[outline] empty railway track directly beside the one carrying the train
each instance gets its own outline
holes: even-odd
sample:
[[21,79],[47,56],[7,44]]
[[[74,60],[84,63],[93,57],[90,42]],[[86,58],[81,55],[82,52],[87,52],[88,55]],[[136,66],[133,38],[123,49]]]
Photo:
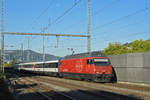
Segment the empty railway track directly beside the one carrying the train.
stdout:
[[[134,97],[134,96],[128,96],[128,95],[121,95],[121,94],[117,94],[117,93],[112,93],[112,92],[108,92],[108,91],[100,91],[99,89],[95,89],[92,87],[87,87],[87,86],[83,86],[83,85],[78,85],[78,84],[72,84],[72,83],[66,83],[66,82],[60,82],[57,80],[46,80],[46,79],[42,79],[42,78],[37,78],[34,80],[40,80],[40,83],[42,84],[55,84],[57,86],[62,86],[65,88],[70,88],[71,90],[77,90],[78,92],[86,94],[86,95],[90,95],[91,97],[95,98],[95,100],[97,99],[102,99],[102,100],[142,100],[140,98]],[[48,85],[48,84],[47,84]],[[90,97],[89,97],[90,98]]]

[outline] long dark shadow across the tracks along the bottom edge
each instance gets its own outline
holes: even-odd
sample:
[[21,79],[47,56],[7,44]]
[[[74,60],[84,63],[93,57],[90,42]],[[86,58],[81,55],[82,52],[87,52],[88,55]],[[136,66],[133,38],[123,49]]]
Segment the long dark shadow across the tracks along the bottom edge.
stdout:
[[141,98],[134,97],[131,95],[125,96],[116,93],[97,91],[97,90],[93,90],[93,91],[74,90],[74,91],[67,91],[67,92],[47,91],[47,92],[40,92],[40,93],[33,92],[33,91],[28,91],[28,92],[20,91],[20,89],[25,89],[25,88],[27,87],[21,85],[16,87],[16,94],[15,94],[16,100],[47,100],[46,98],[41,96],[41,94],[50,95],[49,97],[52,100],[70,100],[60,94],[69,95],[72,98],[75,98],[76,100],[143,100]]

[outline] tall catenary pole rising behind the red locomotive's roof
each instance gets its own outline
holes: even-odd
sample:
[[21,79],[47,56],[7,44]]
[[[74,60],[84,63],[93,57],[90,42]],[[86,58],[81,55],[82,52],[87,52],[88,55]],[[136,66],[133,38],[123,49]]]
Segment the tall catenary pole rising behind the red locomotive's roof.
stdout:
[[91,52],[91,33],[90,33],[90,0],[88,0],[88,52]]

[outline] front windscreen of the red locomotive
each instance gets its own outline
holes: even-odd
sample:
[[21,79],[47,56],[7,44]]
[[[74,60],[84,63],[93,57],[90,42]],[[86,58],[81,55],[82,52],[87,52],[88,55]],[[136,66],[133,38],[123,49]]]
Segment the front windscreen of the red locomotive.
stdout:
[[109,59],[94,59],[95,66],[108,66],[110,65]]

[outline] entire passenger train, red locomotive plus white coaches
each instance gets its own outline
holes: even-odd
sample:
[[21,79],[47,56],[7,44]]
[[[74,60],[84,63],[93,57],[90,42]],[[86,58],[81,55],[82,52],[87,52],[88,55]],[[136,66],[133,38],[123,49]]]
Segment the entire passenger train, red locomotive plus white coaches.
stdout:
[[14,68],[19,71],[96,82],[111,82],[114,79],[110,59],[100,52],[74,54],[46,62],[20,63]]

